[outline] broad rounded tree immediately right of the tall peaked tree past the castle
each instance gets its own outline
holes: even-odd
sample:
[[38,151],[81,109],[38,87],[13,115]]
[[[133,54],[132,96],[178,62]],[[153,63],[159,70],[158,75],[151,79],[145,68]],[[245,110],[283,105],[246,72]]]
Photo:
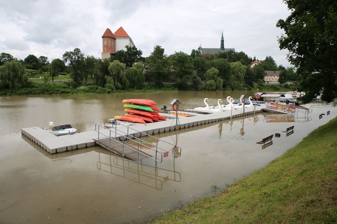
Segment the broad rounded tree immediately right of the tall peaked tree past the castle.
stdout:
[[192,57],[184,52],[176,52],[170,56],[171,69],[178,90],[188,89],[193,73]]

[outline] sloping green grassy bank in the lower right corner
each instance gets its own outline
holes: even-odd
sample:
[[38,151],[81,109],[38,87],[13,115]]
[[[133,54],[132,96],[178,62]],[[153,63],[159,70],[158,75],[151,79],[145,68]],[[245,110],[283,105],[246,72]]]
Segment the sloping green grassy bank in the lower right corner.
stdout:
[[336,223],[337,118],[215,197],[153,223]]

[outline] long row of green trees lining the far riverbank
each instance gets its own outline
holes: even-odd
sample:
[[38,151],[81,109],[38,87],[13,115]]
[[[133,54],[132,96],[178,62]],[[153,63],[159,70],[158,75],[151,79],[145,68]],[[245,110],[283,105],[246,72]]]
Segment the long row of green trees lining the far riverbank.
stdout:
[[[178,90],[243,90],[253,87],[253,83],[264,83],[265,70],[280,70],[280,83],[296,81],[292,67],[277,66],[271,56],[260,60],[250,68],[256,58],[248,57],[244,52],[223,52],[202,57],[198,50],[188,55],[176,52],[167,56],[161,46],[155,46],[149,57],[142,57],[142,51],[126,46],[126,50],[117,51],[110,60],[101,60],[85,55],[80,49],[67,51],[63,58],[54,59],[29,55],[18,60],[8,53],[0,55],[0,82],[3,88],[17,90],[28,83],[32,73],[42,74],[46,81],[55,76],[70,74],[72,87],[79,87],[88,77],[94,78],[94,84],[114,90],[142,89],[144,82],[153,83],[156,88],[163,82],[172,82]],[[26,69],[32,71],[26,72]]]

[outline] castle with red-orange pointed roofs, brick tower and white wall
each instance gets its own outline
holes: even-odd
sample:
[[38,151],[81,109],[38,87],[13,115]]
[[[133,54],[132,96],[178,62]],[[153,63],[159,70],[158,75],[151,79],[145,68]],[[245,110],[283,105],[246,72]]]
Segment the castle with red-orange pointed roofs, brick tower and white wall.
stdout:
[[131,37],[125,32],[123,27],[120,27],[115,33],[112,33],[109,28],[102,36],[102,60],[110,58],[116,51],[126,50],[125,46],[135,47]]

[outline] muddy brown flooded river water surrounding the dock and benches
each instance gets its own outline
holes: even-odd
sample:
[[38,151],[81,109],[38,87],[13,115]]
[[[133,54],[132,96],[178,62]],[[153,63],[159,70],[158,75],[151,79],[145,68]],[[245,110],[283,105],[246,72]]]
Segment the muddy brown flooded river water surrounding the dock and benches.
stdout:
[[[49,122],[93,131],[95,124],[124,115],[127,98],[152,99],[159,108],[177,98],[184,109],[203,106],[204,97],[215,105],[218,98],[241,94],[254,92],[0,97],[0,223],[140,223],[214,195],[337,116],[335,105],[316,103],[305,105],[312,113],[299,111],[290,119],[262,113],[162,133],[156,137],[177,143],[182,154],[157,164],[149,159],[135,163],[99,146],[49,155],[21,135],[22,128],[48,127]],[[282,133],[293,125],[293,134]],[[262,149],[256,144],[275,133],[281,137],[274,137],[273,145]]]

